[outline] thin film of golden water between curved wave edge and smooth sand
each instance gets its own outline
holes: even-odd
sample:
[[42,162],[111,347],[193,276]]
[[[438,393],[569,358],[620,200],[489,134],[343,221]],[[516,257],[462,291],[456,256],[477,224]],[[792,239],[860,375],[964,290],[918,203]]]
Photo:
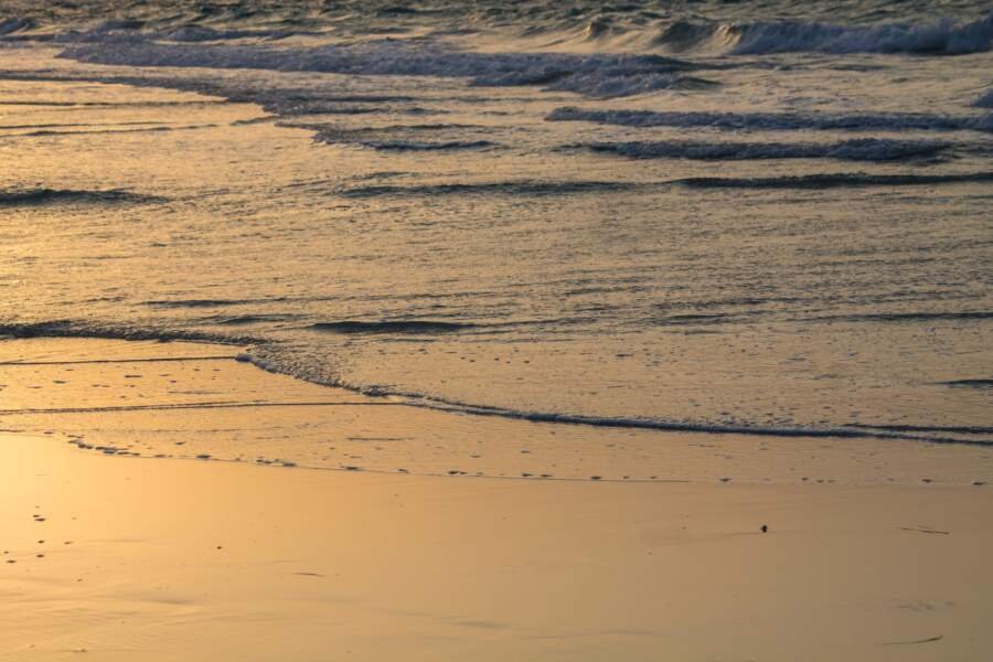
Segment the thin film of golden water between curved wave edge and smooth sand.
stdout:
[[619,482],[993,482],[993,449],[596,427],[409,405],[273,373],[238,345],[0,341],[0,427],[106,455],[349,471]]

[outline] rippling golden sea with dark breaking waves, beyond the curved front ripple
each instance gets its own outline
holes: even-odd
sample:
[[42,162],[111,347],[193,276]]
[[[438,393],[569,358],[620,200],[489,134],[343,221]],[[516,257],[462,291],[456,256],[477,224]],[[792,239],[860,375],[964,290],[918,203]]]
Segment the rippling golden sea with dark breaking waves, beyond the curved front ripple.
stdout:
[[964,1],[8,0],[0,333],[993,444],[991,46]]

